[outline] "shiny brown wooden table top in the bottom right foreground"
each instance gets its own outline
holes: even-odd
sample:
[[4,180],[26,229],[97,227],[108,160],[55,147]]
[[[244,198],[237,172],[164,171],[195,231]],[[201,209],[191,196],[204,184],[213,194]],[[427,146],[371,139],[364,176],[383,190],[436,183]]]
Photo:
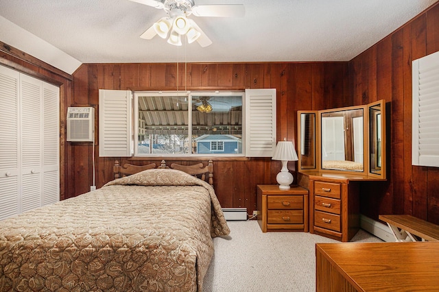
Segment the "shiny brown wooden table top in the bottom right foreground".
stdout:
[[358,291],[439,291],[439,243],[318,243]]

